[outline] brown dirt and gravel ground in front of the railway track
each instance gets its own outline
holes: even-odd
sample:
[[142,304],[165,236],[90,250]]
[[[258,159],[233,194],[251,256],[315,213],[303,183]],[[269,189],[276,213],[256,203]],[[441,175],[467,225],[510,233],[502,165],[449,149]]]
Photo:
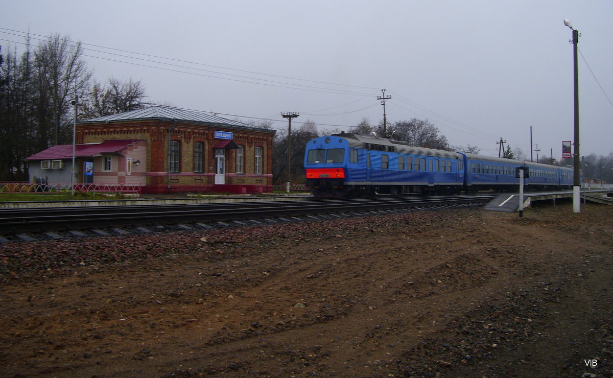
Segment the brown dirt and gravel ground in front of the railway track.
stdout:
[[612,220],[469,208],[0,246],[0,376],[611,377]]

